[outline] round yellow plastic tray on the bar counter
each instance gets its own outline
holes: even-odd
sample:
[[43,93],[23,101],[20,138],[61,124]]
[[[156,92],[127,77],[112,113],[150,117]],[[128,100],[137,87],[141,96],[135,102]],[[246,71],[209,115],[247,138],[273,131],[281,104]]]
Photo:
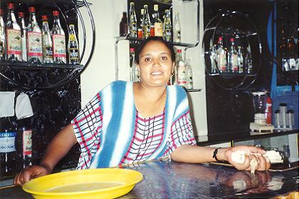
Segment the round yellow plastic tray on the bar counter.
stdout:
[[33,198],[117,198],[143,178],[125,168],[96,168],[53,173],[23,184]]

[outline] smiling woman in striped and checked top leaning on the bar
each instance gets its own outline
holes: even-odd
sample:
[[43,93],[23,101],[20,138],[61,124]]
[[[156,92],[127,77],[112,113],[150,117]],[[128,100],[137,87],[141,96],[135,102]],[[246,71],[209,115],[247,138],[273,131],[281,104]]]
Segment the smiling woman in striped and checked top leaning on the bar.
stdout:
[[[229,161],[239,170],[268,170],[265,151],[253,146],[226,149],[196,146],[187,94],[177,85],[167,86],[174,71],[174,50],[160,37],[150,37],[136,54],[140,82],[116,81],[101,90],[49,144],[38,166],[21,171],[14,184],[53,171],[56,163],[77,142],[78,169],[119,166],[170,156],[174,161],[204,163]],[[231,160],[234,151],[247,151],[244,163]],[[258,154],[258,155],[251,155]]]

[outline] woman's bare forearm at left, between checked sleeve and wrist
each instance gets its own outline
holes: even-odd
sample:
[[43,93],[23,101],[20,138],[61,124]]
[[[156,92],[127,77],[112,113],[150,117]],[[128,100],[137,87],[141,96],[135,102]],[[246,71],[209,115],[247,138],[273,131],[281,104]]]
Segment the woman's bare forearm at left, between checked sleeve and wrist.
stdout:
[[46,154],[43,156],[40,165],[47,168],[48,171],[53,171],[58,161],[68,154],[68,151],[76,144],[77,139],[75,138],[73,126],[69,124],[53,138]]

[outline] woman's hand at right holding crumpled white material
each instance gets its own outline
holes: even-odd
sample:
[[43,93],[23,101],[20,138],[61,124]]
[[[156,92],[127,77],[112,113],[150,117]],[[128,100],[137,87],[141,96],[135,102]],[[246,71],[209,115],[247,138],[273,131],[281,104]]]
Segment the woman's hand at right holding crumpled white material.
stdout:
[[[236,163],[231,159],[231,154],[235,151],[246,151],[245,155],[245,161],[243,163]],[[234,146],[227,151],[225,151],[225,157],[226,160],[229,161],[234,167],[236,167],[238,170],[251,170],[251,160],[256,159],[257,166],[254,168],[256,171],[265,171],[268,170],[271,166],[271,163],[268,158],[264,157],[263,154],[265,154],[266,151],[264,151],[261,148],[258,148],[256,146]]]

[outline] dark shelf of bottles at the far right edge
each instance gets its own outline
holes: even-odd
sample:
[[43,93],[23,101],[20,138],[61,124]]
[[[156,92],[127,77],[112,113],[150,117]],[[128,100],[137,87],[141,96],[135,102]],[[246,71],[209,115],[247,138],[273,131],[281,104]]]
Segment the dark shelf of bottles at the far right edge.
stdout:
[[277,84],[299,85],[298,1],[278,1],[277,8]]

